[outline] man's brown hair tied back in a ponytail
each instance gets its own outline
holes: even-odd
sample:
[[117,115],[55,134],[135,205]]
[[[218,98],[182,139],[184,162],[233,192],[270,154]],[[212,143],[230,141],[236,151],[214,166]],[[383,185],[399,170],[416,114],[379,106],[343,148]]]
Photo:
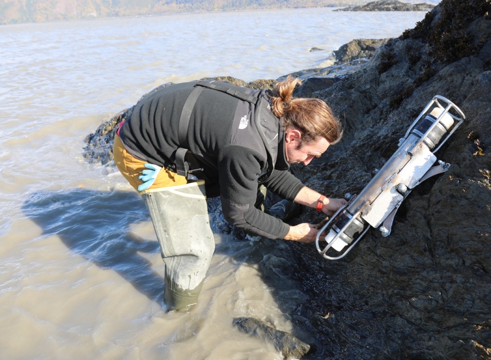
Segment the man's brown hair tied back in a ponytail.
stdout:
[[328,105],[320,99],[293,98],[295,87],[301,83],[298,78],[288,75],[276,84],[270,95],[273,114],[283,117],[286,130],[300,130],[305,143],[321,137],[330,144],[337,143],[343,136],[343,129]]

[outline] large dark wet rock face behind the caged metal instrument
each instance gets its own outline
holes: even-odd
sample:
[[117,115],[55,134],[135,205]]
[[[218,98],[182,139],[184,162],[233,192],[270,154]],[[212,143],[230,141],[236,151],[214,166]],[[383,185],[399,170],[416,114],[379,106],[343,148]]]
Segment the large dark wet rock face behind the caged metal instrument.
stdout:
[[[345,125],[343,140],[321,159],[293,166],[329,197],[360,193],[434,95],[466,116],[436,153],[449,171],[412,191],[389,237],[372,228],[339,261],[295,242],[277,243],[261,260],[296,333],[317,347],[305,359],[491,358],[490,13],[489,0],[443,0],[370,59],[293,74],[304,80],[298,96],[325,100]],[[305,86],[322,76],[336,80]],[[94,159],[130,111],[87,137],[98,139],[87,144]],[[244,236],[219,216],[219,201],[209,207],[221,231]],[[291,223],[321,219],[303,208]],[[282,288],[282,277],[297,286]]]

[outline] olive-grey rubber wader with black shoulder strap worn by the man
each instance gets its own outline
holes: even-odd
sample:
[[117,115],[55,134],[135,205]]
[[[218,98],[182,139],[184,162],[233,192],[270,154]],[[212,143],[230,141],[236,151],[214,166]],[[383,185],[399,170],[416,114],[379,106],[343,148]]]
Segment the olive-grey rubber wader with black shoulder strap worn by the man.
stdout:
[[[175,154],[175,170],[178,175],[185,177],[196,172],[199,176],[199,172],[203,171],[202,168],[190,170],[190,166],[197,162],[188,150],[187,130],[194,104],[205,87],[254,104],[257,102],[257,97],[210,82],[196,84],[184,103],[179,119],[181,147]],[[165,263],[165,306],[167,310],[190,309],[197,303],[215,250],[206,204],[205,181],[149,188],[140,195],[150,213]]]

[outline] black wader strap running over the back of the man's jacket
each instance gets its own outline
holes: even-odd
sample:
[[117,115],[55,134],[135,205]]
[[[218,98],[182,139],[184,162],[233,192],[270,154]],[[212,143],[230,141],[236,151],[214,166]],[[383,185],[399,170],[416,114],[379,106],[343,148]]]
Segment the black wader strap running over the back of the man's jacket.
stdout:
[[235,91],[232,90],[231,88],[227,88],[224,86],[215,85],[214,83],[211,82],[200,81],[196,83],[193,91],[191,91],[188,98],[184,102],[183,110],[181,112],[181,117],[179,118],[178,137],[179,137],[180,147],[175,152],[175,168],[176,168],[176,173],[178,175],[187,177],[188,173],[191,173],[193,171],[203,170],[203,169],[189,170],[189,163],[186,161],[186,156],[188,158],[192,158],[193,156],[192,153],[187,149],[189,147],[189,143],[188,143],[189,120],[191,119],[191,114],[194,109],[194,104],[196,103],[196,100],[198,99],[199,95],[205,88],[221,91],[253,104],[256,104],[258,99],[255,96],[241,93],[240,91]]

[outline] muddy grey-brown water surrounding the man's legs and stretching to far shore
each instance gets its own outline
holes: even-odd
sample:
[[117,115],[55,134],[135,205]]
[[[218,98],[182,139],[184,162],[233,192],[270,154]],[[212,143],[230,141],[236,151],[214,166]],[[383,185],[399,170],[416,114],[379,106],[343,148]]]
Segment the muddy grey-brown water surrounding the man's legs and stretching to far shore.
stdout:
[[0,27],[0,358],[280,359],[232,326],[239,316],[308,340],[285,313],[305,300],[285,276],[287,247],[219,228],[197,308],[164,312],[143,202],[111,167],[85,162],[83,139],[161,83],[277,78],[423,15],[294,9]]

